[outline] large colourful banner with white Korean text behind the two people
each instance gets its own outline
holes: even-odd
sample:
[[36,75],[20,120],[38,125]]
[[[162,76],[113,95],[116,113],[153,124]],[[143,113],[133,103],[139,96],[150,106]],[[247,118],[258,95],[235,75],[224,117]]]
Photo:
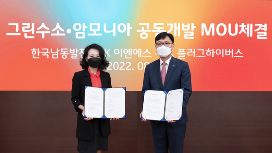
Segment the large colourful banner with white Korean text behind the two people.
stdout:
[[0,90],[71,90],[84,48],[101,45],[113,87],[139,91],[174,35],[194,91],[272,91],[271,0],[1,0]]

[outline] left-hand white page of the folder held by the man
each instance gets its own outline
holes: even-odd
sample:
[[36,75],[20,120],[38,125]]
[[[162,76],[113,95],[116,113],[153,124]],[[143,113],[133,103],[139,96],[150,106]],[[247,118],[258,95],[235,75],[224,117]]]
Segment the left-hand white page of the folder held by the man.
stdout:
[[151,120],[163,119],[165,96],[164,91],[147,90],[144,94],[142,117]]

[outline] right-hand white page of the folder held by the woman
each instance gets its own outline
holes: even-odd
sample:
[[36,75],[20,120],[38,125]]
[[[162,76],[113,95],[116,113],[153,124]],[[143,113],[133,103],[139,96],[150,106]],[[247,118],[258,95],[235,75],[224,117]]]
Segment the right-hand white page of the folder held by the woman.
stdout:
[[126,114],[126,90],[119,88],[105,89],[106,118],[123,118]]

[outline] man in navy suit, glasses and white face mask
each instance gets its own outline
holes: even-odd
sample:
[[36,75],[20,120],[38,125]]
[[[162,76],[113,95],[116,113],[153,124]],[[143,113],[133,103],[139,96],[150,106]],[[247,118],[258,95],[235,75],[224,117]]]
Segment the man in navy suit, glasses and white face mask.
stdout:
[[160,58],[147,65],[144,73],[142,100],[145,90],[169,91],[184,88],[182,120],[150,121],[155,153],[168,153],[168,150],[170,153],[183,153],[188,122],[186,105],[192,94],[191,73],[187,62],[171,56],[174,46],[172,34],[158,34],[155,37],[155,48]]

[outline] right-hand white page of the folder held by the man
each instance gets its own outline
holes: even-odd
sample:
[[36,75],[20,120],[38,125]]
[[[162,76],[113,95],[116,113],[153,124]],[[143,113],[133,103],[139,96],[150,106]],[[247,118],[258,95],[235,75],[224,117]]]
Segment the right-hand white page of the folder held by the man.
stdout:
[[165,119],[179,120],[182,115],[183,90],[171,90],[167,93]]

